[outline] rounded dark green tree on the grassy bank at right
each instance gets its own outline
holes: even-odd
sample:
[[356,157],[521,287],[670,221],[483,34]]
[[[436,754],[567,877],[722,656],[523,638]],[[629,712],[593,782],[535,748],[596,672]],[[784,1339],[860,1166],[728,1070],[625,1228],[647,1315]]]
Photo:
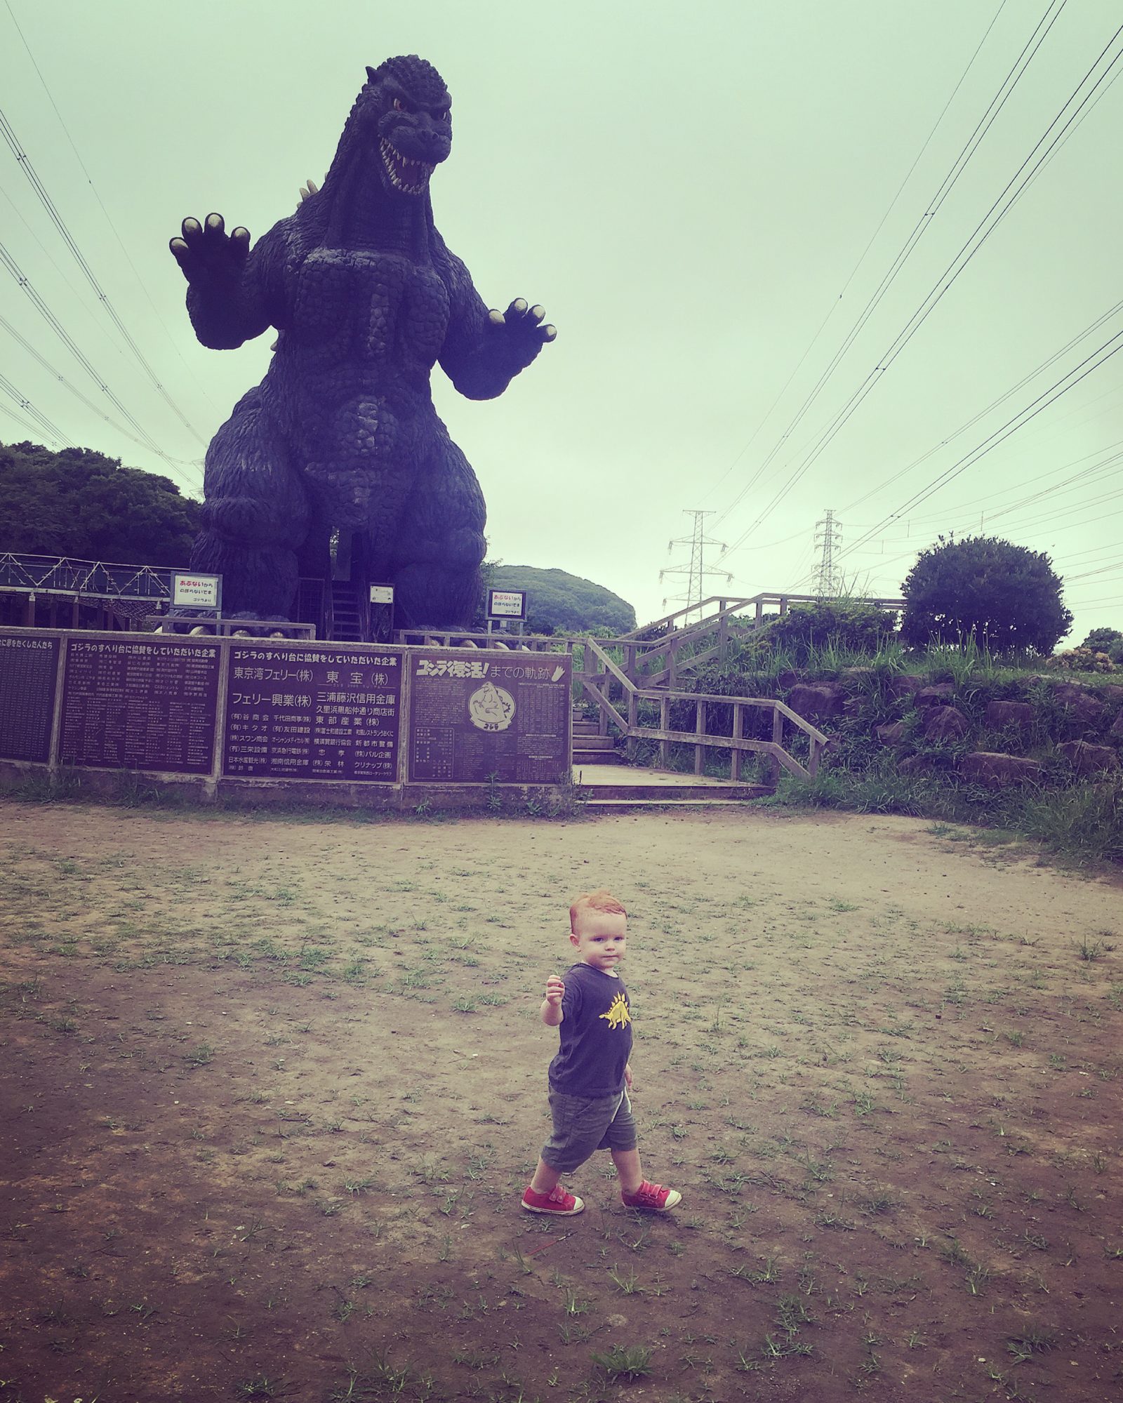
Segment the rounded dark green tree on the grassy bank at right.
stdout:
[[1049,556],[994,536],[941,536],[901,591],[901,638],[912,647],[974,638],[992,652],[1049,654],[1072,624]]

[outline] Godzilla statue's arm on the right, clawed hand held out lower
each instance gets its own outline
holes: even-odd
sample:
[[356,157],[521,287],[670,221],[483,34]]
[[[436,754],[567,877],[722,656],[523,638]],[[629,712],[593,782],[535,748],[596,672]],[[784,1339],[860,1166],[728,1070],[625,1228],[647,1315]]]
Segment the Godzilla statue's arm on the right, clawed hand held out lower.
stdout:
[[489,311],[467,268],[435,230],[434,262],[449,295],[441,369],[469,400],[493,400],[557,333],[542,325],[542,307],[528,307],[521,297],[505,313]]

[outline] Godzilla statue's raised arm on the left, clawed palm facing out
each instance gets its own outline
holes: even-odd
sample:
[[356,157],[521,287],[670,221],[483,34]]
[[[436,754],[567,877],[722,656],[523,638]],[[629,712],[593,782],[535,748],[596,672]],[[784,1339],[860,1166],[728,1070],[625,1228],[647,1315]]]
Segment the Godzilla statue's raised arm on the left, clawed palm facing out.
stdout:
[[270,325],[282,325],[284,224],[274,224],[250,248],[248,230],[227,236],[222,215],[208,215],[202,224],[184,220],[182,237],[170,247],[188,282],[191,325],[205,347],[230,351]]

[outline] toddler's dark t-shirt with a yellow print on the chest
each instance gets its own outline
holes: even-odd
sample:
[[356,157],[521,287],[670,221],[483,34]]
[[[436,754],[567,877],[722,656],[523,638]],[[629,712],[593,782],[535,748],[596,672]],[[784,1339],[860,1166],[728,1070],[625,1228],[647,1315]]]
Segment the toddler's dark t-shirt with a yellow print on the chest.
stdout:
[[632,1054],[632,1006],[619,975],[571,965],[563,975],[562,1047],[550,1062],[550,1087],[566,1096],[615,1096]]

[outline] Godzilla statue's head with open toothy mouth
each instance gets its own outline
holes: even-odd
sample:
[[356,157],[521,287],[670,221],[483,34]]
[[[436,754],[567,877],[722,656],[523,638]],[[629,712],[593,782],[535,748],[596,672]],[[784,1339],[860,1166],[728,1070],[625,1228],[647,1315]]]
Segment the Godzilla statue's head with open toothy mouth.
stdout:
[[424,195],[452,149],[452,98],[437,69],[416,53],[368,67],[355,108],[378,143],[386,188]]

